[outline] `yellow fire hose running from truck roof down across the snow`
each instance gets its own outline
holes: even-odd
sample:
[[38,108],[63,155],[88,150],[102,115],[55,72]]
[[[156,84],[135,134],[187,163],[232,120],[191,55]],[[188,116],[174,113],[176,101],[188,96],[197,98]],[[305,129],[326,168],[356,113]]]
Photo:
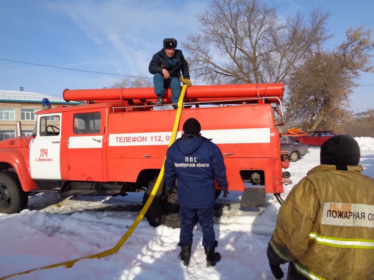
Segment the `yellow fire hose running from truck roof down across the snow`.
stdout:
[[[183,88],[182,88],[182,91],[181,91],[181,96],[179,97],[179,100],[178,100],[178,110],[177,110],[177,115],[175,116],[173,132],[171,134],[170,141],[169,141],[169,146],[168,147],[170,147],[171,144],[174,143],[175,138],[177,136],[178,125],[179,125],[179,121],[180,121],[181,113],[182,113],[183,98],[184,98],[184,94],[186,94],[186,89],[187,89],[187,85],[183,85]],[[140,213],[139,213],[138,217],[136,218],[136,220],[134,221],[134,223],[132,223],[131,227],[128,229],[128,231],[125,233],[125,235],[122,236],[122,238],[119,240],[119,242],[116,244],[116,246],[114,246],[113,248],[111,248],[111,249],[109,249],[107,251],[96,253],[94,255],[85,256],[85,257],[82,257],[82,258],[79,258],[79,259],[73,259],[71,261],[61,262],[59,264],[52,264],[52,265],[48,265],[46,267],[34,268],[34,269],[31,269],[31,270],[23,271],[21,273],[15,273],[15,274],[12,274],[12,275],[8,275],[8,276],[5,276],[3,278],[0,278],[0,280],[7,279],[7,278],[15,276],[15,275],[21,275],[21,274],[25,274],[25,273],[30,273],[31,271],[35,271],[35,270],[52,268],[52,267],[59,267],[61,265],[65,265],[66,267],[72,267],[77,261],[79,261],[81,259],[102,258],[102,257],[109,256],[111,254],[114,254],[114,253],[118,252],[118,250],[122,247],[122,245],[126,242],[126,240],[134,232],[135,228],[138,226],[138,224],[140,223],[141,219],[144,217],[145,213],[147,212],[149,206],[151,205],[151,203],[152,203],[152,201],[154,199],[154,196],[156,195],[156,192],[157,192],[157,190],[158,190],[158,188],[160,186],[160,183],[162,181],[162,178],[163,178],[164,164],[165,164],[165,159],[164,159],[164,162],[162,164],[162,168],[161,168],[159,177],[157,177],[156,184],[154,185],[153,190],[151,192],[151,195],[148,197],[147,202],[145,203],[143,209],[140,211]]]

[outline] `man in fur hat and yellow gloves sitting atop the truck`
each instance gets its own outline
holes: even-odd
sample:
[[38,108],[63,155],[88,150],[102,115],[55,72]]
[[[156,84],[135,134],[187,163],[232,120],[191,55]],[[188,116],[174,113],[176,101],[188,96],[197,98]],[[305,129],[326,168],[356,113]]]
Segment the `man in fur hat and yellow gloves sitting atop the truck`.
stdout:
[[[178,103],[181,95],[181,84],[191,86],[190,74],[188,71],[188,63],[181,50],[176,50],[177,40],[174,38],[166,38],[163,40],[163,49],[154,54],[149,63],[148,70],[153,74],[154,93],[157,95],[156,106],[163,105],[163,97],[165,88],[171,88],[171,100]],[[183,78],[181,77],[181,72]],[[176,109],[177,106],[174,105]]]

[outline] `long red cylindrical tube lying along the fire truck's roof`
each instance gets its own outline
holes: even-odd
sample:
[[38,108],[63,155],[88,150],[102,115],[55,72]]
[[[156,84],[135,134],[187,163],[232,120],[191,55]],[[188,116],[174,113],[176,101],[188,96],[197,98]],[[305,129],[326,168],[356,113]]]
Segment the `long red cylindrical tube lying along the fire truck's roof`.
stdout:
[[[283,96],[283,83],[273,84],[230,84],[193,85],[187,88],[185,99],[250,98]],[[153,87],[143,88],[99,88],[91,90],[64,90],[66,101],[80,100],[130,100],[154,99]],[[165,99],[171,98],[170,89],[165,90]]]

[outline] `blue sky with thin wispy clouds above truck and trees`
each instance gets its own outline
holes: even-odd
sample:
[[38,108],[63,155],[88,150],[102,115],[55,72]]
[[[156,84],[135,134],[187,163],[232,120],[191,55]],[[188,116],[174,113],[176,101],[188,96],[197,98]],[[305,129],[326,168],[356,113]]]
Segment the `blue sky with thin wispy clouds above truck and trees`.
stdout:
[[[305,15],[314,7],[331,10],[328,27],[344,40],[345,31],[366,24],[374,29],[374,1],[270,0],[279,16]],[[195,16],[208,1],[0,0],[0,58],[65,68],[147,77],[148,64],[166,37],[184,40],[197,31]],[[119,76],[49,68],[0,60],[0,89],[62,95],[65,88],[108,87]],[[374,84],[364,74],[361,85]],[[374,108],[374,86],[352,95],[356,112]]]

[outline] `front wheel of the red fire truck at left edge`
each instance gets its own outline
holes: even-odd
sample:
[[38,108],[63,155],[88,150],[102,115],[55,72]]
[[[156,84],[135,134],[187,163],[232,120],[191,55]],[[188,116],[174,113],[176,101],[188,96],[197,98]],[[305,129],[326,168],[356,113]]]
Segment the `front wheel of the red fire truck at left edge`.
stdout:
[[19,213],[27,207],[28,196],[12,171],[0,172],[0,213]]

